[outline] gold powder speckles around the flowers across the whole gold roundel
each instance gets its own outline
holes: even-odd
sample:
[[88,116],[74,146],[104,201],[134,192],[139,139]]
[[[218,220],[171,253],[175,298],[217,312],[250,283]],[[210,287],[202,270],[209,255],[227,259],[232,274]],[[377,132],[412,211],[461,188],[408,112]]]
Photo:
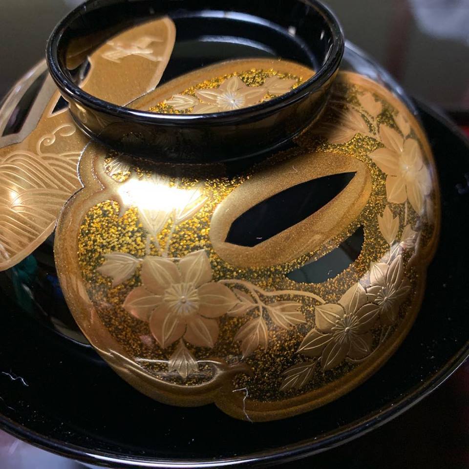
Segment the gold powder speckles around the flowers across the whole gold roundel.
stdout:
[[[246,85],[258,86],[274,74],[274,70],[253,69],[237,75]],[[233,75],[235,74],[224,75],[200,83],[185,90],[184,93],[193,96],[196,89],[217,87]],[[297,84],[301,82],[299,77],[290,75],[285,75],[285,77],[295,78]],[[118,200],[120,199],[117,195],[112,197],[109,196],[109,192],[106,192],[107,200],[102,200],[89,208],[86,206],[87,212],[81,221],[78,233],[80,274],[85,281],[87,294],[99,319],[112,338],[122,346],[127,356],[138,366],[153,377],[167,383],[192,386],[207,384],[213,380],[217,375],[218,367],[224,366],[223,361],[230,364],[243,362],[251,367],[251,373],[236,375],[232,382],[234,389],[246,388],[249,395],[248,401],[261,403],[298,397],[300,394],[318,390],[327,384],[334,383],[348,373],[357,370],[361,364],[360,361],[344,360],[332,370],[323,372],[319,358],[308,358],[298,354],[300,343],[306,334],[315,327],[315,307],[322,301],[337,303],[344,292],[354,283],[362,282],[362,284],[366,284],[366,282],[369,282],[370,264],[385,261],[390,256],[391,248],[380,232],[378,225],[378,216],[384,213],[386,207],[389,208],[392,217],[397,218],[399,223],[396,234],[397,242],[401,239],[406,225],[419,231],[419,247],[425,246],[434,235],[433,220],[430,215],[419,217],[408,202],[394,204],[389,203],[387,200],[386,175],[373,163],[369,155],[376,149],[383,148],[383,144],[378,140],[379,126],[385,125],[397,130],[398,133],[400,132],[395,121],[397,113],[396,109],[378,95],[375,98],[376,102],[381,104],[379,113],[372,115],[365,112],[360,101],[365,91],[359,86],[339,82],[335,96],[340,97],[341,104],[335,103],[335,109],[327,109],[321,122],[339,125],[337,109],[346,108],[348,103],[360,111],[361,118],[365,123],[363,133],[366,133],[366,135],[356,132],[347,141],[333,144],[313,128],[303,132],[296,139],[295,145],[291,149],[285,150],[272,159],[248,168],[233,177],[226,175],[228,170],[225,167],[217,167],[216,171],[212,172],[207,167],[140,164],[135,160],[128,159],[125,155],[112,152],[94,160],[94,164],[104,170],[101,173],[104,173],[108,180],[112,180],[113,187],[119,188],[121,184],[126,184],[129,178],[136,178],[137,182],[146,181],[155,185],[163,184],[169,188],[181,190],[181,193],[193,191],[194,188],[199,191],[198,198],[188,202],[188,208],[178,206],[180,202],[178,200],[179,195],[174,195],[172,198],[168,197],[168,200],[166,200],[168,216],[166,218],[162,217],[164,221],[158,233],[153,235],[149,235],[148,221],[147,224],[142,222],[144,209],[139,209],[137,205],[123,209],[119,205]],[[151,110],[172,112],[164,103]],[[415,132],[410,135],[416,138]],[[362,206],[360,206],[361,210],[358,216],[351,223],[340,225],[340,232],[327,237],[326,241],[321,243],[319,247],[315,249],[305,248],[298,253],[295,251],[295,256],[292,256],[294,258],[287,262],[276,262],[273,257],[274,254],[272,254],[272,265],[266,267],[253,267],[253,263],[248,264],[251,267],[240,267],[235,265],[234,262],[228,262],[226,257],[223,257],[222,251],[216,251],[212,244],[212,242],[215,244],[214,233],[219,228],[213,224],[213,215],[217,210],[226,210],[226,205],[222,205],[220,209],[220,204],[235,189],[238,193],[248,190],[246,189],[249,188],[247,184],[243,186],[246,181],[251,182],[256,180],[256,177],[262,178],[269,171],[273,171],[277,165],[294,161],[295,158],[301,158],[313,152],[326,152],[330,158],[342,158],[344,160],[352,158],[354,163],[357,163],[356,160],[363,163],[364,166],[361,165],[360,167],[363,168],[363,171],[369,173],[371,189],[368,199],[363,202],[363,208],[361,209]],[[156,175],[161,177],[155,177]],[[107,180],[102,182],[104,186],[107,185]],[[118,192],[118,189],[115,190]],[[171,196],[174,194],[173,192],[165,193],[169,193]],[[149,193],[148,197],[151,196]],[[437,196],[437,194],[432,194],[428,197],[429,209],[436,209]],[[181,196],[181,200],[183,199],[184,197]],[[251,199],[254,199],[254,194],[249,200]],[[153,222],[159,216],[162,216],[160,212],[164,205],[160,200],[155,199],[154,206],[149,206],[149,213],[153,210],[150,213],[154,217]],[[183,213],[186,209],[190,211],[191,207],[194,206],[197,206],[197,210],[191,216],[180,223],[176,223],[178,213]],[[428,210],[428,213],[431,210]],[[123,214],[119,216],[121,211]],[[350,265],[337,276],[320,284],[298,283],[287,277],[287,274],[292,270],[301,268],[306,263],[314,262],[337,249],[359,227],[363,227],[364,232],[361,251],[358,253],[356,260],[351,261]],[[249,229],[249,227],[246,229]],[[288,250],[289,244],[284,243],[280,246],[280,249],[283,251]],[[257,306],[249,309],[241,317],[231,317],[224,314],[218,319],[218,340],[213,348],[195,347],[190,343],[186,343],[189,353],[197,360],[199,373],[190,374],[187,379],[183,379],[178,373],[170,372],[168,368],[168,360],[175,353],[178,341],[162,349],[152,337],[149,324],[134,318],[122,306],[129,292],[142,283],[140,264],[132,272],[132,275],[115,286],[112,285],[111,277],[102,275],[97,269],[105,262],[105,255],[114,252],[134,256],[138,262],[147,255],[168,256],[177,264],[182,257],[199,250],[204,250],[210,260],[213,273],[212,280],[214,282],[223,280],[232,289],[237,288],[238,294],[241,291],[246,295],[248,289],[242,284],[237,284],[236,281],[250,282],[250,284],[259,288],[259,291],[267,292],[265,295],[258,293],[259,298],[267,306],[278,301],[300,302],[300,311],[304,322],[296,324],[289,330],[284,330],[273,322],[272,317],[266,310],[261,311]],[[253,259],[253,252],[255,250],[252,250],[251,254],[246,257],[251,256],[251,259]],[[404,252],[405,264],[409,262],[412,254],[412,251]],[[418,297],[417,292],[420,281],[420,271],[418,269],[420,269],[419,266],[412,266],[405,270],[411,293],[402,304],[396,322],[388,329],[384,329],[382,324],[377,323],[371,330],[373,350],[377,350],[378,344],[381,344],[381,342],[395,340],[394,332],[404,323],[406,315],[409,314]],[[232,283],[230,283],[230,280]],[[293,293],[268,294],[274,291]],[[307,296],[299,298],[295,295],[295,292],[310,293],[322,300]],[[268,329],[268,345],[265,349],[262,345],[256,347],[254,353],[243,359],[240,341],[235,340],[236,334],[243,325],[259,317],[263,318]],[[370,358],[370,360],[373,359]],[[295,387],[282,389],[285,370],[299,363],[311,363],[313,367],[311,380],[300,389]]]

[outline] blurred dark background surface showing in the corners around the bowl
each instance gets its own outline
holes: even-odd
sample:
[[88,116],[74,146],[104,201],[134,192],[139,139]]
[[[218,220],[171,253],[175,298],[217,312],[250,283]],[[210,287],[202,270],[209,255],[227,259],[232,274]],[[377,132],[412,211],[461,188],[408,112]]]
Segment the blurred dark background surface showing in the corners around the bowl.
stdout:
[[[52,27],[79,0],[0,0],[0,96],[44,56]],[[406,91],[454,115],[469,111],[469,0],[329,0],[347,39]],[[467,123],[469,124],[469,123]],[[469,468],[469,362],[405,414],[284,469]],[[0,431],[1,469],[81,467]]]

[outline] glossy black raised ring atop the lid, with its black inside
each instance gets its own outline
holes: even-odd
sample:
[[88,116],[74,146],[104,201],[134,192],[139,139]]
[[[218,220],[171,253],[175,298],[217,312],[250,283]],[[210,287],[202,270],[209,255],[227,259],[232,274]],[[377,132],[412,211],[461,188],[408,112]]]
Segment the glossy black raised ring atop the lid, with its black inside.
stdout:
[[[191,116],[119,107],[80,89],[76,82],[93,49],[131,25],[162,15],[171,17],[177,31],[164,80],[213,62],[253,56],[282,57],[317,73],[271,101]],[[89,47],[72,60],[69,51],[84,37]],[[314,122],[343,48],[338,21],[316,0],[91,0],[59,23],[47,45],[47,61],[74,119],[88,135],[158,160],[224,161],[275,149]],[[86,110],[85,119],[77,104]],[[125,138],[130,132],[139,138]]]

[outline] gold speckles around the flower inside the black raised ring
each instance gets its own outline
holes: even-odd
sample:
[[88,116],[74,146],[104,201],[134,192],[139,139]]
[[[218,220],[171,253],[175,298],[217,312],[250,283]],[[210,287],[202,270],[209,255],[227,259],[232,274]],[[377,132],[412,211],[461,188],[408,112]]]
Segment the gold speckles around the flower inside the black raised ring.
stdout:
[[[250,70],[228,73],[226,75],[215,77],[210,80],[205,80],[201,83],[198,83],[197,85],[191,86],[190,88],[184,90],[180,94],[187,94],[190,96],[195,96],[196,90],[218,88],[224,81],[228,80],[231,77],[239,77],[247,86],[262,86],[267,80],[267,78],[270,78],[270,77],[278,77],[281,80],[284,80],[284,79],[296,80],[297,83],[295,83],[292,86],[292,89],[296,88],[303,81],[302,77],[298,77],[290,73],[281,73],[273,68],[266,69],[266,70],[257,70],[256,68],[251,68]],[[272,98],[275,98],[275,95],[267,93],[262,99],[259,100],[259,102],[268,101],[269,99],[272,99]],[[153,112],[159,112],[162,114],[190,114],[192,112],[192,107],[188,109],[184,109],[184,110],[177,110],[177,109],[174,109],[169,104],[162,102],[162,103],[158,103],[156,106],[150,107],[149,110]]]

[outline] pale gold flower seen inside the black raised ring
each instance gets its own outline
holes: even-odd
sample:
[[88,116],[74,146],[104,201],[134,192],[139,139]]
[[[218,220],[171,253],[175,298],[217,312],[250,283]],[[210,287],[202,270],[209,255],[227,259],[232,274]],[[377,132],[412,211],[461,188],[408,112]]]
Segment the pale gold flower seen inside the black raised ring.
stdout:
[[218,88],[199,89],[195,95],[202,103],[193,107],[193,114],[241,109],[257,104],[267,93],[263,86],[248,86],[239,77],[225,80]]

